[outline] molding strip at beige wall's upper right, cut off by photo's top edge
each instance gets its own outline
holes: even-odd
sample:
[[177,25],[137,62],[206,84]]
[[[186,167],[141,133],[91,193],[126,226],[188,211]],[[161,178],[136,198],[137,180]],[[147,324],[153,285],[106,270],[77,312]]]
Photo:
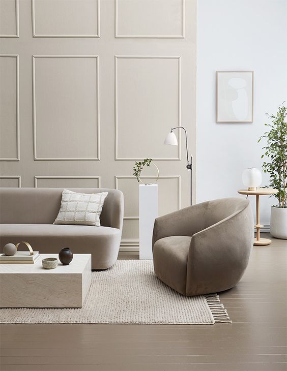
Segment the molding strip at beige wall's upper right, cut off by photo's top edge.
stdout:
[[119,34],[119,1],[114,0],[114,37],[116,39],[184,39],[185,0],[181,0],[181,34],[179,35],[121,35]]

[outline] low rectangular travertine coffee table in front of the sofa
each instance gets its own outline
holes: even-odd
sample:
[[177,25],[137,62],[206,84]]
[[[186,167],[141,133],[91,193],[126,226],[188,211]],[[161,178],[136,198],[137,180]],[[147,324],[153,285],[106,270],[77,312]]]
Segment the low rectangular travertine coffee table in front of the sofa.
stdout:
[[44,269],[41,254],[35,264],[0,264],[0,307],[79,308],[91,284],[91,254],[74,254],[70,265]]

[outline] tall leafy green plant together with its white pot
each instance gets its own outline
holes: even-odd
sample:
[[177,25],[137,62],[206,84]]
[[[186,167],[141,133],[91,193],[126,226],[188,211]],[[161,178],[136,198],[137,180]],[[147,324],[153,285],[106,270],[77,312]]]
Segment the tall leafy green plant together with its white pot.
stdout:
[[278,205],[271,207],[270,233],[273,237],[287,239],[287,107],[278,107],[276,115],[269,115],[269,128],[259,139],[266,138],[265,150],[261,158],[266,157],[262,168],[269,173],[269,187],[278,190],[275,197]]

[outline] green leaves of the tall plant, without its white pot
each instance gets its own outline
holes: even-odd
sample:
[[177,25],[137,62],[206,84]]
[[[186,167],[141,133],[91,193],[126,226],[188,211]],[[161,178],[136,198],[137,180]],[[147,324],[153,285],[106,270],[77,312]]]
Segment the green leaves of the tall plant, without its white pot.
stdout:
[[269,187],[278,190],[275,197],[278,206],[287,208],[287,107],[283,104],[278,107],[276,115],[268,115],[271,123],[266,123],[269,128],[259,139],[260,142],[266,138],[265,150],[261,158],[266,157],[262,168],[269,173]]

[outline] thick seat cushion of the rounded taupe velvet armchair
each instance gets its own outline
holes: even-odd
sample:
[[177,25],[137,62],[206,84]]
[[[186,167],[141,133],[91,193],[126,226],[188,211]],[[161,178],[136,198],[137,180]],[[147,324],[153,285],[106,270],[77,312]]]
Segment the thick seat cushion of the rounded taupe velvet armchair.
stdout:
[[154,269],[166,285],[186,293],[186,270],[191,237],[169,236],[154,244]]

